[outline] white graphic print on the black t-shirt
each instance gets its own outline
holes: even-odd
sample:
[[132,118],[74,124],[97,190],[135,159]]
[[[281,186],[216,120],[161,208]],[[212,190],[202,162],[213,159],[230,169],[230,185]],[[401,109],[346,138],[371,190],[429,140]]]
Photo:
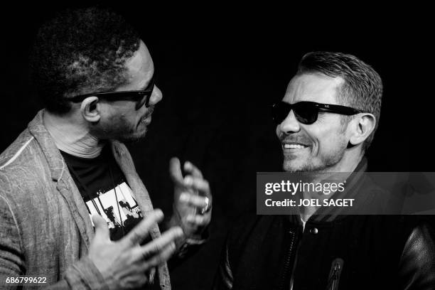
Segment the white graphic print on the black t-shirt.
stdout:
[[87,210],[90,216],[101,215],[106,220],[112,240],[119,240],[123,232],[129,232],[143,218],[127,183],[122,182],[97,195],[86,202]]

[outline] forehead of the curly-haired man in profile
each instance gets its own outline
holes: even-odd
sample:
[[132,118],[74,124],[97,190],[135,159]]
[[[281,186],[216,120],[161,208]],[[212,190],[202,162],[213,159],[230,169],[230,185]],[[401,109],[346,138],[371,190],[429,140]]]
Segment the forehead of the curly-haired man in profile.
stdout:
[[136,87],[136,90],[149,82],[154,74],[154,63],[143,41],[134,55],[125,62],[125,66],[129,71],[129,85]]

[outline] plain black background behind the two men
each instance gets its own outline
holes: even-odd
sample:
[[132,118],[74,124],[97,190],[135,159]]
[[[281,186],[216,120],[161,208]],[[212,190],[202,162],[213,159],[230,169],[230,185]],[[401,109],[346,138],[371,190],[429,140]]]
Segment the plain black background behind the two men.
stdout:
[[[351,53],[380,73],[384,97],[367,152],[370,171],[433,171],[430,83],[421,76],[429,69],[419,68],[429,60],[424,16],[408,7],[314,11],[313,5],[110,5],[140,31],[163,92],[146,139],[129,146],[154,206],[171,215],[171,156],[197,165],[213,190],[212,235],[173,271],[175,289],[210,287],[227,228],[255,211],[255,173],[281,170],[267,105],[284,96],[304,53]],[[65,6],[81,4],[16,4],[2,11],[0,151],[41,108],[28,80],[28,50],[38,26]]]

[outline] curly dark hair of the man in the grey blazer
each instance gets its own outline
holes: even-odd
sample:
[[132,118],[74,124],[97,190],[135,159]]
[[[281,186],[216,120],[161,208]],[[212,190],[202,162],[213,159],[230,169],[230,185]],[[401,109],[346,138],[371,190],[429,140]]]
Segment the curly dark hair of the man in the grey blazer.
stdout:
[[139,49],[136,30],[98,7],[60,12],[38,31],[31,75],[50,112],[70,111],[68,97],[114,90],[128,81],[125,62]]

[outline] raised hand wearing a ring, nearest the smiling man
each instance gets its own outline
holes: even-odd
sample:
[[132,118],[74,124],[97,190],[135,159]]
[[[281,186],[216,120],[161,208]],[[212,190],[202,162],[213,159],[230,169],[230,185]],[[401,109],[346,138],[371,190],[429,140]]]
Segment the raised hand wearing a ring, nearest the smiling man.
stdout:
[[200,238],[211,220],[212,195],[208,181],[192,163],[184,163],[183,178],[181,164],[177,158],[170,161],[169,172],[174,183],[173,224],[180,225],[187,237]]

